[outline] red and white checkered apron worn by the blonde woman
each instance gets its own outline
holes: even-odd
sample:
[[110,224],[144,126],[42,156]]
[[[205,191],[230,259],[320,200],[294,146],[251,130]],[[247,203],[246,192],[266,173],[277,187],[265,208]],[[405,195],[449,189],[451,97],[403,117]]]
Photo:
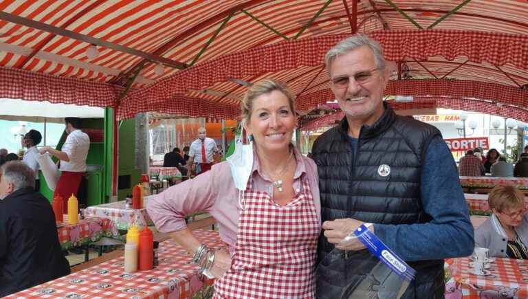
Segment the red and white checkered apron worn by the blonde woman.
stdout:
[[321,228],[307,179],[286,206],[252,185],[250,178],[231,269],[214,284],[214,298],[315,298]]

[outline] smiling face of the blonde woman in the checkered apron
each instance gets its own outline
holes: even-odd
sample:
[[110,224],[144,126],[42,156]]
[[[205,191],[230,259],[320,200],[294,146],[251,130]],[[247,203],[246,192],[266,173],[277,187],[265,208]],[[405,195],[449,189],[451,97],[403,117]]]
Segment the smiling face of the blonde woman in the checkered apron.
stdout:
[[255,98],[246,124],[248,133],[261,151],[281,151],[289,147],[297,118],[284,93],[274,90]]

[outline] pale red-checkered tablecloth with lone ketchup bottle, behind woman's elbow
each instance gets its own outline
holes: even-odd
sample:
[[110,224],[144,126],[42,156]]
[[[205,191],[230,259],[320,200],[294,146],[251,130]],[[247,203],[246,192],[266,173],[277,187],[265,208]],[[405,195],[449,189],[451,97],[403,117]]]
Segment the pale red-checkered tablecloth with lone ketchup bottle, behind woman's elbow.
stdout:
[[[146,206],[148,197],[144,197],[143,201],[143,206]],[[91,206],[86,208],[85,214],[87,217],[110,219],[118,230],[128,230],[133,223],[142,227],[153,224],[146,208],[127,209],[125,208],[125,201]]]

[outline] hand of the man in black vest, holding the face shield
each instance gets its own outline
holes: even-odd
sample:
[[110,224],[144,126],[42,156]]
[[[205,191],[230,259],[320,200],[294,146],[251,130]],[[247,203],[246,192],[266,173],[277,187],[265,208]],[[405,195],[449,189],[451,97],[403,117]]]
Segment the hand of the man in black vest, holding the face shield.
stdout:
[[[322,229],[325,230],[325,237],[327,240],[336,245],[339,250],[364,250],[365,245],[359,239],[343,242],[344,238],[351,232],[359,228],[364,222],[345,218],[336,219],[334,221],[325,221],[322,223]],[[373,226],[369,228],[373,231]]]

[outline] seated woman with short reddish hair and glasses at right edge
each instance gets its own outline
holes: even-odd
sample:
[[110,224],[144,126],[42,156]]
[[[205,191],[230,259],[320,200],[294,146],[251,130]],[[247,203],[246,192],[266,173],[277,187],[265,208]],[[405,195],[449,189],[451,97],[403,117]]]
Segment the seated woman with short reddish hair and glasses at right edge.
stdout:
[[515,186],[497,185],[487,200],[493,214],[475,230],[475,247],[489,248],[489,256],[527,259],[525,195]]

